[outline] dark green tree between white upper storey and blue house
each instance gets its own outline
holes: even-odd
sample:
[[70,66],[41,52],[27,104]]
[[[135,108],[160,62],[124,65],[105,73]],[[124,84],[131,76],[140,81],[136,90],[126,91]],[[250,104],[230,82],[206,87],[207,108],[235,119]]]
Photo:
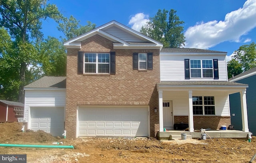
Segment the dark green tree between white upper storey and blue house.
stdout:
[[228,67],[228,79],[232,78],[233,75],[236,76],[243,72],[242,65],[234,58],[228,61],[227,67]]

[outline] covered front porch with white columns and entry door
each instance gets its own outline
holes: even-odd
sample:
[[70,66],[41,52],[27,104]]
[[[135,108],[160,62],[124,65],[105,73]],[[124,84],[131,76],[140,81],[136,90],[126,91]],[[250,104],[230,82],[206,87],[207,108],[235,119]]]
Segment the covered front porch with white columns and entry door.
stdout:
[[[248,118],[246,88],[248,85],[228,81],[172,81],[157,84],[159,100],[159,132],[171,132],[175,124],[188,124],[189,135],[200,137],[201,128],[211,128],[213,137],[232,137],[241,131],[230,132],[218,129],[230,125],[228,95],[240,92],[242,112],[242,136],[247,136]],[[214,132],[213,132],[214,131]],[[162,133],[164,132],[164,133]],[[182,131],[184,132],[184,131]],[[216,134],[218,133],[218,134]]]

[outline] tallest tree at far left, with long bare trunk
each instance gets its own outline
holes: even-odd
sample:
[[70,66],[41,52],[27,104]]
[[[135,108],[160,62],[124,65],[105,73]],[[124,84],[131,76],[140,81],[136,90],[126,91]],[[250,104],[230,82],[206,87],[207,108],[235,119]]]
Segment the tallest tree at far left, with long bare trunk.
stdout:
[[54,4],[47,4],[47,0],[0,0],[0,15],[0,26],[8,30],[18,48],[14,53],[19,56],[19,102],[23,102],[27,65],[36,56],[34,48],[30,51],[30,41],[42,39],[42,20],[59,20],[62,15]]

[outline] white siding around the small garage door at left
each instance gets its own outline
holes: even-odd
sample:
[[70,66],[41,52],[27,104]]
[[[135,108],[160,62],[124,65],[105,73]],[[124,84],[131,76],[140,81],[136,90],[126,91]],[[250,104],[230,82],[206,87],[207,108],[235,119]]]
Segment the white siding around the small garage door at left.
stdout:
[[65,106],[66,90],[25,90],[24,118],[28,122],[29,107]]

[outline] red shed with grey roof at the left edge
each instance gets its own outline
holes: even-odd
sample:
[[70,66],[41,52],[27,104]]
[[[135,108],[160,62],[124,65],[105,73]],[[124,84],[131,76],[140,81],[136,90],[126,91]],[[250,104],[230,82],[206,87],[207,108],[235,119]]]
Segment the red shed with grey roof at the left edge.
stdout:
[[18,118],[23,118],[24,104],[0,100],[0,122],[18,122]]

